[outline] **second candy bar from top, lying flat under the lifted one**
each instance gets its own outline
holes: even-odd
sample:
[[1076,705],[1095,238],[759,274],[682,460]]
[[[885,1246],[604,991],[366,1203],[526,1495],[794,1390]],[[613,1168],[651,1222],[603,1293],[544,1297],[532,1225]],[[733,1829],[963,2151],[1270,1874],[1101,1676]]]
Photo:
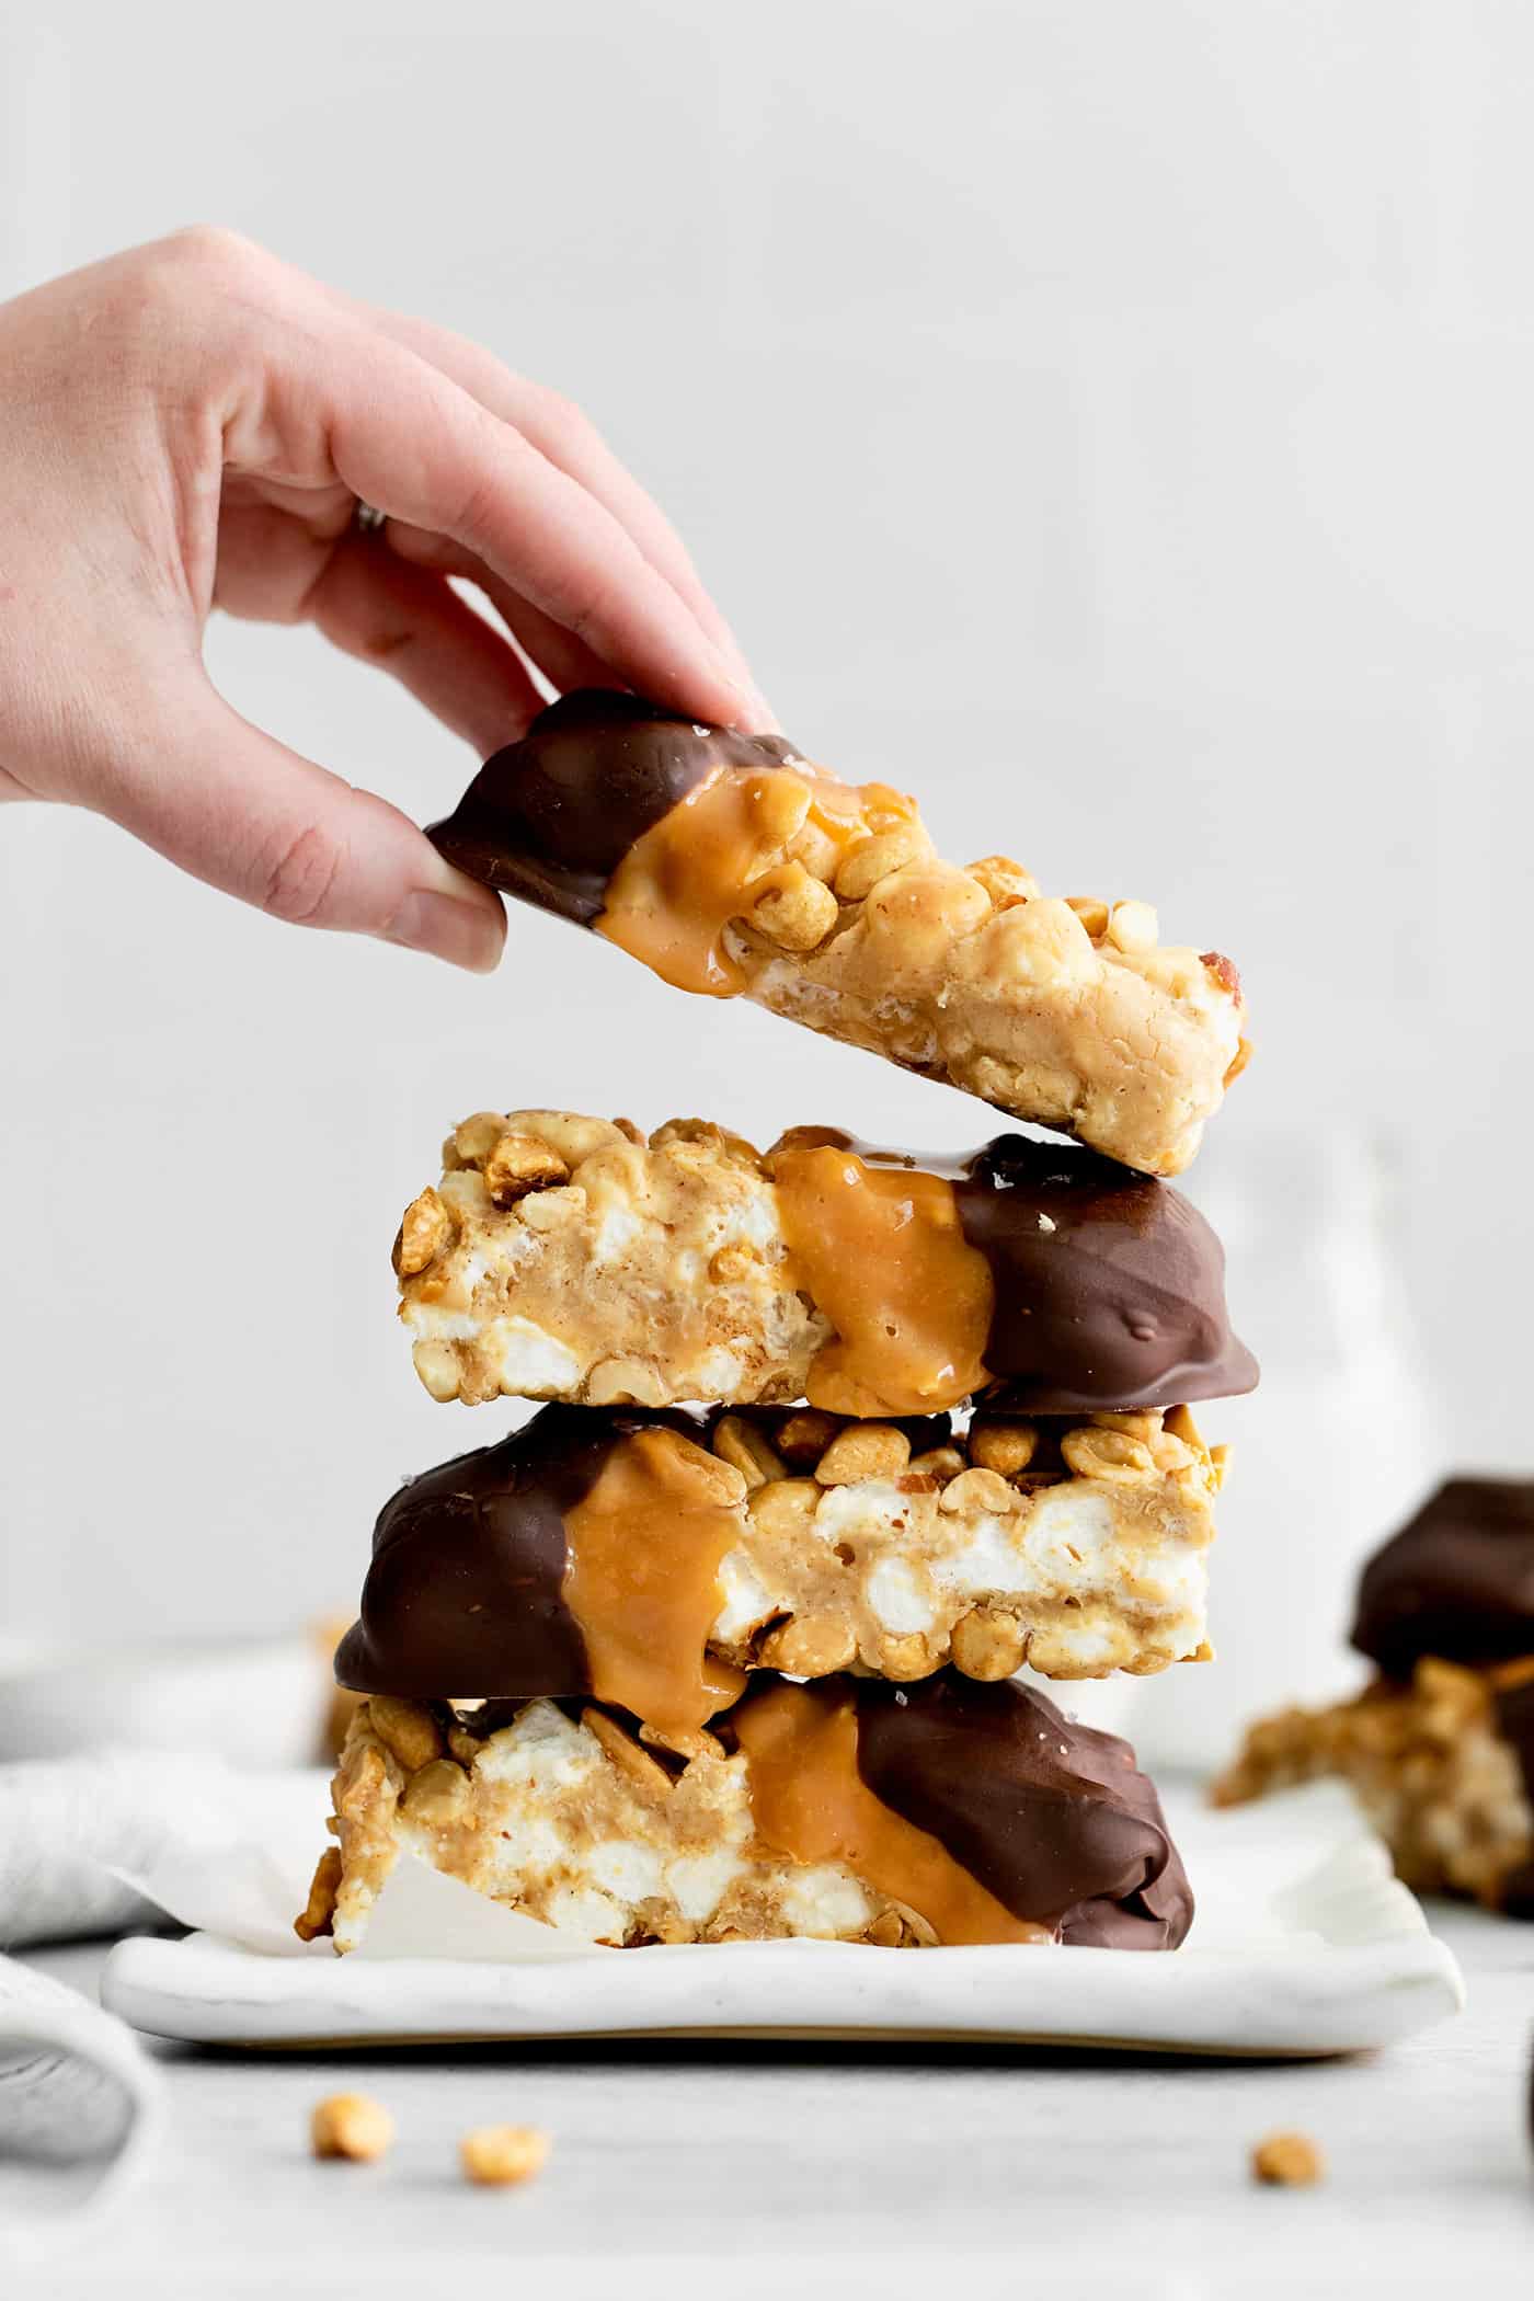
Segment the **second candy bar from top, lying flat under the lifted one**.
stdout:
[[1003,1134],[918,1160],[793,1127],[764,1155],[704,1121],[649,1139],[478,1111],[393,1249],[437,1399],[810,1399],[913,1415],[1178,1406],[1251,1390],[1214,1231],[1166,1183]]

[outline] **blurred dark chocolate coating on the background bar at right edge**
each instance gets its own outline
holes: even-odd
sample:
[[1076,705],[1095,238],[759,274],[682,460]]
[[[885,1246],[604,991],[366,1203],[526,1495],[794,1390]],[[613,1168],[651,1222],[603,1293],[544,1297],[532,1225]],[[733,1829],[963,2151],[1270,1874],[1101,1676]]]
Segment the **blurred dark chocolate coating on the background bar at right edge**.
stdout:
[[1534,1480],[1451,1477],[1364,1567],[1352,1643],[1387,1677],[1424,1654],[1534,1654]]

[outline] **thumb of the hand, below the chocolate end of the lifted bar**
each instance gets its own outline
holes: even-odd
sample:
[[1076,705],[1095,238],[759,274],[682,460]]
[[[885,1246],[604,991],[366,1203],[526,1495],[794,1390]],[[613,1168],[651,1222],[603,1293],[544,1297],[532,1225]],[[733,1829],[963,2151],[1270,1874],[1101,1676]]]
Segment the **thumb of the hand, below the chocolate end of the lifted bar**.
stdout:
[[205,681],[159,706],[131,762],[90,803],[170,863],[299,927],[377,934],[474,973],[501,957],[506,913],[373,792],[244,720]]

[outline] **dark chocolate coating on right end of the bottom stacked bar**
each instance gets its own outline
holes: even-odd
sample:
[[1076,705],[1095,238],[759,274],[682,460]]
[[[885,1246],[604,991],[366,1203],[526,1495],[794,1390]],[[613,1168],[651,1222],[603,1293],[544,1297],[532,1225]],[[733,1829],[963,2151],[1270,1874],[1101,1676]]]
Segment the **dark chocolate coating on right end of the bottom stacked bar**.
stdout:
[[1014,1682],[938,1671],[911,1687],[851,1684],[867,1788],[1014,1917],[1088,1949],[1184,1940],[1194,1894],[1127,1742]]

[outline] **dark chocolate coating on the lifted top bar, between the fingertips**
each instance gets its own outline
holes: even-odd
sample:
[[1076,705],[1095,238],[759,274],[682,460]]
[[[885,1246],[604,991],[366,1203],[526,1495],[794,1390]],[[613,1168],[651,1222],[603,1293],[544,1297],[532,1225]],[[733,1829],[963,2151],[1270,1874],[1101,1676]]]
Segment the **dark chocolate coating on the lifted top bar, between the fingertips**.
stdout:
[[637,695],[577,688],[485,759],[425,835],[471,879],[589,927],[635,840],[704,775],[793,757],[782,736],[701,727]]

